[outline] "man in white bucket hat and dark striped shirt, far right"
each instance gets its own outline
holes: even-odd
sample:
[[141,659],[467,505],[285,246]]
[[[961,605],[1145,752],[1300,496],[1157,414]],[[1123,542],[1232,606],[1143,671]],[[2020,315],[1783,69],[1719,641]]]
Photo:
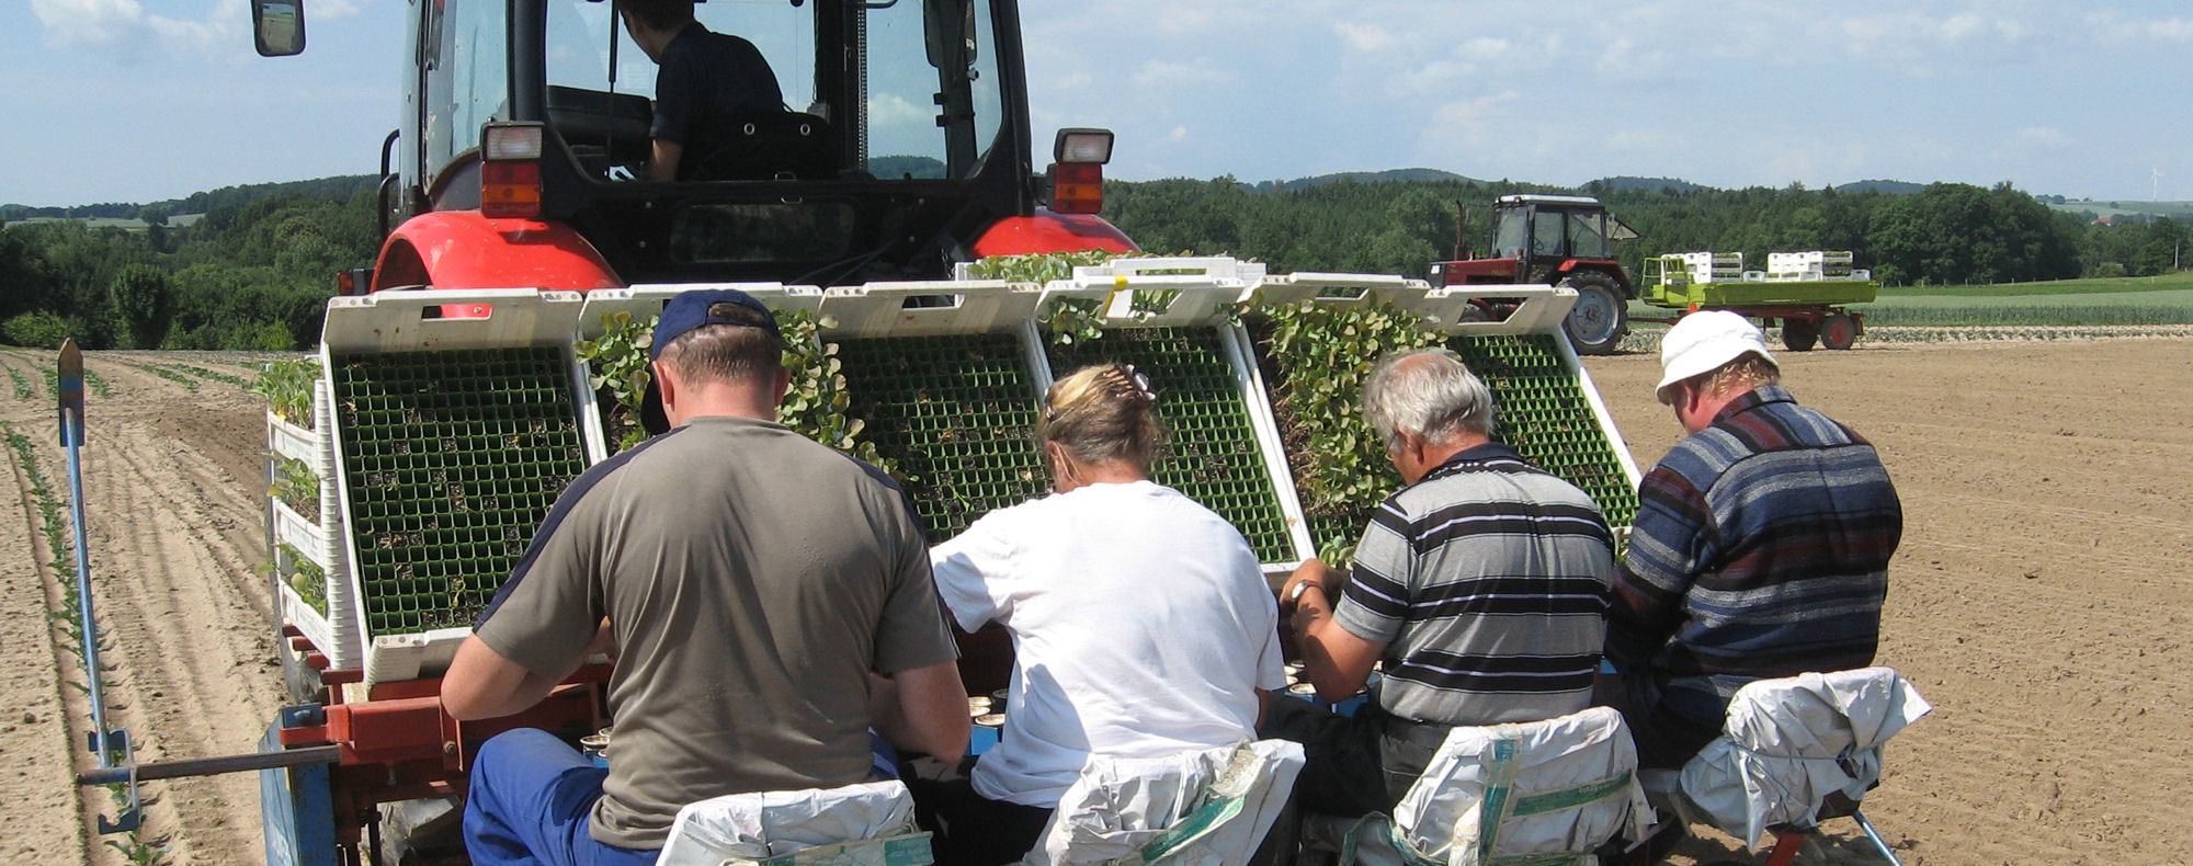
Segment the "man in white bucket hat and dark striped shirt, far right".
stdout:
[[1873,445],[1798,406],[1743,316],[1684,316],[1660,371],[1689,436],[1638,485],[1599,699],[1640,765],[1680,767],[1737,686],[1873,664],[1904,511]]

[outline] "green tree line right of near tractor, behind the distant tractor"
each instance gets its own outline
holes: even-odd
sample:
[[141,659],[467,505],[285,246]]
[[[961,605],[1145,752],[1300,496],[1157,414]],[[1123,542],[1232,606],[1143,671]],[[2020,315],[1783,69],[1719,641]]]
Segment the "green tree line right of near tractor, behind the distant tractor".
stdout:
[[[1336,180],[1246,186],[1232,178],[1105,186],[1105,217],[1151,252],[1230,252],[1272,272],[1379,272],[1423,276],[1432,261],[1491,246],[1491,202],[1509,193],[1577,193],[1511,182]],[[1851,250],[1886,285],[2029,283],[2077,276],[2149,276],[2178,267],[2182,221],[2050,210],[2009,184],[1930,184],[1917,193],[1621,189],[1592,184],[1636,239],[1616,246],[1636,270],[1647,254]],[[1467,217],[1461,219],[1458,217]]]

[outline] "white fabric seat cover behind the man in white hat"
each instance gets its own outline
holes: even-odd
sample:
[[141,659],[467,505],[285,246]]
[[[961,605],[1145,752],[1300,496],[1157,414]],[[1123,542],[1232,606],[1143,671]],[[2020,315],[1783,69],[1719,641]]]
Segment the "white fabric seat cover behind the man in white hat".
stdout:
[[1750,682],[1728,721],[1682,767],[1684,818],[1759,846],[1818,827],[1829,794],[1857,802],[1882,778],[1882,743],[1932,706],[1895,669]]

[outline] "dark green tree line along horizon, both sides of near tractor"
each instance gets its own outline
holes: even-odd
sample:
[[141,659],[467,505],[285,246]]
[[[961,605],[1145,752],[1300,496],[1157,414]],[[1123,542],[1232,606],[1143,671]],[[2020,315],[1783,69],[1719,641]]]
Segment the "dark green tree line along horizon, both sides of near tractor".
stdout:
[[[1248,186],[1232,178],[1114,182],[1105,217],[1151,252],[1237,254],[1272,272],[1423,276],[1456,254],[1458,228],[1482,254],[1491,202],[1507,193],[1577,193],[1511,182],[1404,175]],[[1632,270],[1647,254],[1851,250],[1888,285],[2026,283],[2149,276],[2175,270],[2189,241],[2169,217],[2107,224],[2050,210],[2009,184],[1932,184],[1914,193],[1607,184],[1583,193],[1640,237],[1616,246]],[[112,210],[143,230],[0,213],[0,342],[88,349],[305,349],[318,340],[333,276],[373,261],[379,237],[371,178],[228,186]],[[191,226],[169,215],[204,213]]]

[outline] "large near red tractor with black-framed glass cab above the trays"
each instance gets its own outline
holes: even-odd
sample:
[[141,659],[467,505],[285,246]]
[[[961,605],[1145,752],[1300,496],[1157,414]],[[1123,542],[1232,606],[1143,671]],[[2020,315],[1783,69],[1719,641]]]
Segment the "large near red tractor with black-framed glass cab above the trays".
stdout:
[[[1110,132],[1061,132],[1035,171],[1013,0],[711,0],[695,20],[750,42],[781,101],[695,116],[706,145],[649,180],[658,66],[612,2],[412,0],[373,287],[846,285],[945,278],[1031,235],[1132,250],[1094,217]],[[432,252],[452,248],[515,261]]]

